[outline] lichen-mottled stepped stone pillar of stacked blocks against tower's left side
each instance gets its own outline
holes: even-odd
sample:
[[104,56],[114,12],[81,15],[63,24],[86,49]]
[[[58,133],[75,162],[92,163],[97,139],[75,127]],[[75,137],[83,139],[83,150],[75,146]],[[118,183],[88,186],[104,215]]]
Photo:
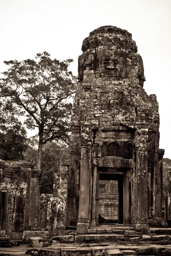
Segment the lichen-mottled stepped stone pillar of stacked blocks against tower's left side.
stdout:
[[55,189],[55,197],[52,197],[50,200],[49,233],[52,236],[65,235],[67,223],[68,169],[69,166],[67,164],[60,166],[58,192]]

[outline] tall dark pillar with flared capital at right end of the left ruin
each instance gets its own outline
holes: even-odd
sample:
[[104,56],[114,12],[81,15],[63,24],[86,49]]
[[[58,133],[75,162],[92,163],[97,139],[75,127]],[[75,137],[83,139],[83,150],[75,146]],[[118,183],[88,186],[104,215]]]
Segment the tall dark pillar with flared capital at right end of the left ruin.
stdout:
[[38,227],[41,170],[32,169],[29,225]]

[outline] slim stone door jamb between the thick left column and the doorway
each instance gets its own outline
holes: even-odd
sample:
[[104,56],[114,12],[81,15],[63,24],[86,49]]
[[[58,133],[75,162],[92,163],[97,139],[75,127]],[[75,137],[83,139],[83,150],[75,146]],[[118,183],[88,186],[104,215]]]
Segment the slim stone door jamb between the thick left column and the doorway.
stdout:
[[94,166],[91,226],[96,226],[96,188],[97,188],[97,166]]

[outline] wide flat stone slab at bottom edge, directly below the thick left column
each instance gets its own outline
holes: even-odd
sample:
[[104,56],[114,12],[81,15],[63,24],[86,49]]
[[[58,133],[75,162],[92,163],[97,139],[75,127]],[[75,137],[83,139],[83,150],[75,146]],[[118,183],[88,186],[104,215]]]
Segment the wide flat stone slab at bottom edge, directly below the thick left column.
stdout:
[[61,256],[91,256],[91,249],[87,247],[64,248],[61,249]]

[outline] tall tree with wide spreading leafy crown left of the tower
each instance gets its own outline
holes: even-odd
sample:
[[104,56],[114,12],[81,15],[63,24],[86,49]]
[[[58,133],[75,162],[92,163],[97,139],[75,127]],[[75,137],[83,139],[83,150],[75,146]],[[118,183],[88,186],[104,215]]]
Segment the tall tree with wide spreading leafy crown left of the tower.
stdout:
[[37,168],[41,169],[43,144],[52,140],[67,143],[75,77],[68,71],[72,59],[51,59],[48,52],[38,53],[35,60],[4,61],[9,69],[0,79],[0,94],[26,117],[29,129],[38,128]]

